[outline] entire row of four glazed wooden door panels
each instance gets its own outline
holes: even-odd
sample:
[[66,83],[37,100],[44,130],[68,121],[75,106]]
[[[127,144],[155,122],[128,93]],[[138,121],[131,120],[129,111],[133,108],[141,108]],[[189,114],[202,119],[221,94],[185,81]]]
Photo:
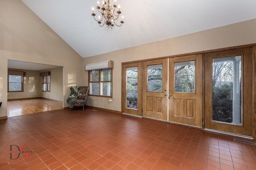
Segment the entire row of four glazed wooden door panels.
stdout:
[[123,64],[122,111],[252,137],[252,51]]

